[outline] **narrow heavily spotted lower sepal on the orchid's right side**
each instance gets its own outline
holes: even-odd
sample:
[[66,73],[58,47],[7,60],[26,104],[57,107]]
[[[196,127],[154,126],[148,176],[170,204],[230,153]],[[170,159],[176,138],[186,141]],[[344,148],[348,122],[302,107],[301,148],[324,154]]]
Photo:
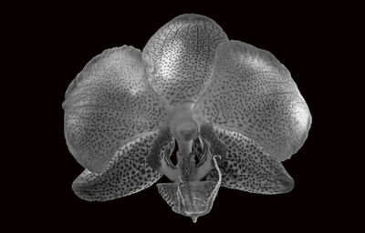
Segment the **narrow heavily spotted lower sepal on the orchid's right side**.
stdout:
[[[259,194],[286,193],[293,189],[294,180],[275,157],[252,139],[225,129],[214,129],[227,146],[222,164],[222,187]],[[212,170],[207,180],[217,180]]]

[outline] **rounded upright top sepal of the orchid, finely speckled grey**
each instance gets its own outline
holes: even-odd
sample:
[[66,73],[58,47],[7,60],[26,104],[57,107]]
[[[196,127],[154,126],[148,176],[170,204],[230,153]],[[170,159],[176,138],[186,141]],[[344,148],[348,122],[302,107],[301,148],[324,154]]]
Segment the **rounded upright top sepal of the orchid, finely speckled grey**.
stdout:
[[194,103],[209,85],[223,29],[203,15],[180,15],[143,48],[151,85],[169,104]]

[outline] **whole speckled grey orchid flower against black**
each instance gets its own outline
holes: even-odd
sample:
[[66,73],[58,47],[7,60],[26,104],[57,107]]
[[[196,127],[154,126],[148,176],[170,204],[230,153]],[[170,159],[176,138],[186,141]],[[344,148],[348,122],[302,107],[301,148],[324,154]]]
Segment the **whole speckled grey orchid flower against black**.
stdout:
[[193,14],[163,25],[142,51],[121,46],[92,58],[62,106],[68,149],[85,167],[72,184],[79,198],[122,198],[164,175],[172,182],[157,184],[162,198],[194,222],[221,186],[289,192],[281,162],[311,125],[275,56]]

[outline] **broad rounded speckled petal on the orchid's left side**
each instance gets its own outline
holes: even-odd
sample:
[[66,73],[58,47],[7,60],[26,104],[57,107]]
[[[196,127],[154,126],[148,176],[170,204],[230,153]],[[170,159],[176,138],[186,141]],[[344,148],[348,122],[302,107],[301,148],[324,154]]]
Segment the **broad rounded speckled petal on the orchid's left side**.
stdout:
[[97,173],[121,145],[156,129],[167,115],[145,76],[141,51],[131,46],[95,56],[68,86],[63,108],[69,151]]

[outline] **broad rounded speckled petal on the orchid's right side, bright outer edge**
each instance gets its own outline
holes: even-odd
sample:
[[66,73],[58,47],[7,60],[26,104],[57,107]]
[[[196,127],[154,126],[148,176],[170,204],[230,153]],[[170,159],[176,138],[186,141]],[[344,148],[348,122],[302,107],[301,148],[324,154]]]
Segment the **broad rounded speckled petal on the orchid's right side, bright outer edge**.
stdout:
[[239,41],[219,46],[211,86],[193,107],[214,126],[254,139],[280,161],[308,137],[311,116],[276,57]]

